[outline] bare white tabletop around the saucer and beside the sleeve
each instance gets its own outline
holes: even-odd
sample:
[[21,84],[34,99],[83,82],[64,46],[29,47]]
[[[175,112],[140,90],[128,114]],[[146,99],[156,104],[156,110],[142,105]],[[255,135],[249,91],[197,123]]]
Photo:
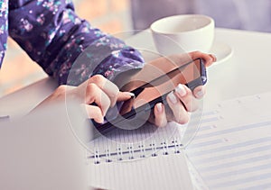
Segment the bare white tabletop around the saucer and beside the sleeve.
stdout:
[[[204,104],[211,106],[221,100],[243,95],[255,95],[271,90],[268,84],[271,64],[271,34],[216,29],[215,41],[226,42],[234,50],[230,59],[208,69],[209,82]],[[127,40],[135,48],[153,46],[149,32]],[[145,45],[148,44],[148,45]],[[0,99],[0,115],[16,117],[28,113],[56,88],[51,78],[44,78]]]

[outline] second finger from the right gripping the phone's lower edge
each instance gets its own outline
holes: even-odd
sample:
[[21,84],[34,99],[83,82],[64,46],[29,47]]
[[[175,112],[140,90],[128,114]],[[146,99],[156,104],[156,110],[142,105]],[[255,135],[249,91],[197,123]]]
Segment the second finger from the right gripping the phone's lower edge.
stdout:
[[187,86],[179,84],[174,90],[174,95],[181,100],[186,111],[193,112],[198,108],[198,101],[195,100],[191,89],[189,89]]

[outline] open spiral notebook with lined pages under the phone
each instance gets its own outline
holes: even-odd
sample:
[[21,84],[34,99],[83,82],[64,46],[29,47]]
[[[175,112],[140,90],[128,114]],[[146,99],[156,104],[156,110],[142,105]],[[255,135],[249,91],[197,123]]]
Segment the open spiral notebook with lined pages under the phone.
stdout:
[[194,189],[201,179],[187,163],[183,147],[186,137],[192,139],[195,134],[201,115],[192,115],[192,131],[188,124],[169,122],[157,128],[148,123],[90,141],[89,183],[105,189]]

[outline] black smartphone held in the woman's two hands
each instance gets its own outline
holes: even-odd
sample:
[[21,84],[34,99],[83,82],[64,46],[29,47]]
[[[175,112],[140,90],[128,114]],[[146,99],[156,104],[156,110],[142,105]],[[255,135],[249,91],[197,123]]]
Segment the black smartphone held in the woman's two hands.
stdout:
[[[114,109],[109,110],[109,114],[106,115],[107,122],[97,123],[92,121],[97,130],[94,136],[106,134],[118,128],[118,126],[128,126],[127,123],[132,121],[131,119],[135,118],[135,116],[150,115],[155,104],[167,104],[166,95],[171,93],[180,83],[193,90],[197,86],[205,85],[206,82],[206,68],[202,59],[194,59],[182,64],[182,66],[132,89],[130,92],[135,94],[135,98],[118,103]],[[125,130],[125,127],[120,128]]]

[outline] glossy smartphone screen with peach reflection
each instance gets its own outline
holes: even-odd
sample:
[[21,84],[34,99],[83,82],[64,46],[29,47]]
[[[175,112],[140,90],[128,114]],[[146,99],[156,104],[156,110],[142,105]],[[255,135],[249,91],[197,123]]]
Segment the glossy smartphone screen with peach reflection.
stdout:
[[186,84],[191,89],[203,85],[205,82],[201,78],[202,66],[204,67],[201,59],[195,59],[178,68],[173,68],[172,71],[155,78],[143,86],[133,89],[131,92],[135,94],[135,100],[127,101],[129,104],[124,104],[122,109],[129,112],[127,108],[136,109],[143,104],[150,103],[154,99],[172,92],[179,84]]

